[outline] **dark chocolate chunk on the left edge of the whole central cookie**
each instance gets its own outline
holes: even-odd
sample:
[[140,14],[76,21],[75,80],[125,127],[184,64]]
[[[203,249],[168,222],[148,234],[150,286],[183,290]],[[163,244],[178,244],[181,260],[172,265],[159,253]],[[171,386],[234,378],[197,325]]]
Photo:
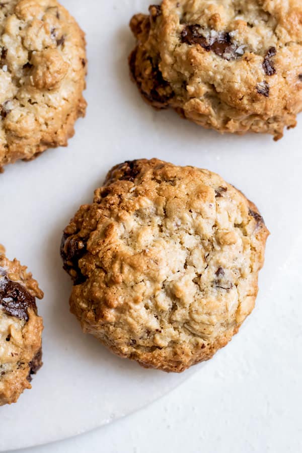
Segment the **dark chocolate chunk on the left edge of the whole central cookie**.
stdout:
[[79,267],[79,260],[87,252],[87,239],[63,233],[60,253],[63,260],[63,269],[68,272],[74,285],[79,285],[86,280]]

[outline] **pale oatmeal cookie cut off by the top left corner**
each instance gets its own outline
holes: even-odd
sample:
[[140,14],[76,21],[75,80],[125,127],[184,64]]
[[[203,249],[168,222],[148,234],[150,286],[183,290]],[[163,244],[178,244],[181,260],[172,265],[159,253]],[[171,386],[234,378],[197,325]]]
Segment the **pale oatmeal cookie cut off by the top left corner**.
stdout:
[[0,3],[0,169],[67,145],[86,66],[84,33],[56,0]]

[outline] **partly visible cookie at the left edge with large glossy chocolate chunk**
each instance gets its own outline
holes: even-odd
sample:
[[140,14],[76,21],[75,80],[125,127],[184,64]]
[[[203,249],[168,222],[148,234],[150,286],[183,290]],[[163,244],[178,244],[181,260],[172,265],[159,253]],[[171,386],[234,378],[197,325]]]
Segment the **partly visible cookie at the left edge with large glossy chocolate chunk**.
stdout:
[[43,297],[36,280],[19,261],[8,260],[0,245],[0,406],[31,389],[32,374],[42,365],[36,297]]

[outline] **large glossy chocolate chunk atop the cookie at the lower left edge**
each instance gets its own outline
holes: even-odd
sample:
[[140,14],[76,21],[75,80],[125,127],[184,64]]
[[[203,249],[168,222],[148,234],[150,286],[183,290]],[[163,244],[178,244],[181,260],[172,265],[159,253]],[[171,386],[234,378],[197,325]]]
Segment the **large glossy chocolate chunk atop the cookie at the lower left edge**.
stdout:
[[37,312],[36,300],[20,283],[10,280],[7,275],[0,279],[0,308],[7,315],[28,321],[28,309]]

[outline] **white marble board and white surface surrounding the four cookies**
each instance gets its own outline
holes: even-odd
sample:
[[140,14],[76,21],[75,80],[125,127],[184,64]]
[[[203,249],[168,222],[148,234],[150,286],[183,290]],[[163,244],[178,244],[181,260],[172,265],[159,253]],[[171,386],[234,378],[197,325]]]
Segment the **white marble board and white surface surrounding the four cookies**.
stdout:
[[[87,32],[89,107],[67,149],[19,163],[0,176],[1,241],[45,291],[44,366],[33,389],[0,410],[0,445],[33,445],[109,422],[152,401],[187,375],[141,370],[81,334],[68,314],[61,231],[90,202],[108,169],[159,157],[219,173],[259,207],[271,237],[256,309],[240,333],[181,387],[146,409],[82,437],[34,452],[301,451],[302,118],[279,142],[221,136],[156,112],[130,83],[127,27],[146,0],[65,0]],[[189,375],[190,373],[188,373]],[[6,443],[5,443],[6,442]]]

